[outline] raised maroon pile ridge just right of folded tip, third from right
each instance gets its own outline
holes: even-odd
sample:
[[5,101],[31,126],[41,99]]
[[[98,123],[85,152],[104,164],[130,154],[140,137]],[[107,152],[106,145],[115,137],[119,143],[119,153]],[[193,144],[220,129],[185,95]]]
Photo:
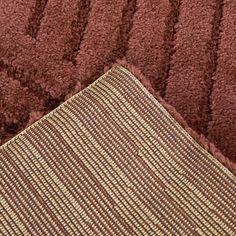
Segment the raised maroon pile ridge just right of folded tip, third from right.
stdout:
[[[165,74],[168,66],[163,57],[168,59],[168,44],[172,40],[169,35],[172,30],[169,23],[172,22],[169,20],[172,19],[173,9],[167,0],[137,1],[137,6],[127,60],[142,69],[154,88],[161,89],[165,83],[161,74]],[[136,45],[139,45],[139,50],[136,50]]]

